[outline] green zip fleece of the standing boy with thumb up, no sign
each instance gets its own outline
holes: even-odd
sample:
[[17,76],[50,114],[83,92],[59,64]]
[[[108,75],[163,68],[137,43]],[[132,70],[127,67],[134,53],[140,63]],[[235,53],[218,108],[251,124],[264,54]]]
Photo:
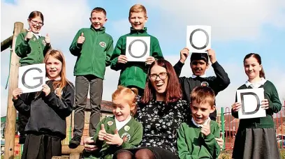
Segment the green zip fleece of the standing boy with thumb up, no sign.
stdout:
[[[85,41],[82,45],[78,45],[77,40],[81,33],[84,34]],[[75,76],[95,75],[104,79],[105,67],[110,66],[110,56],[113,52],[112,36],[105,33],[105,27],[80,29],[69,50],[78,57],[73,71]]]

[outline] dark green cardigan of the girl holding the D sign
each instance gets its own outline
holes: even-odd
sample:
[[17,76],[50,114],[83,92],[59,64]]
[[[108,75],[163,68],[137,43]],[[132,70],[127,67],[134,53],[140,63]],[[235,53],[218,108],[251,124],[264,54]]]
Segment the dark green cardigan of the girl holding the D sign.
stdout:
[[[277,90],[270,81],[266,81],[263,85],[259,86],[259,88],[264,89],[264,98],[268,99],[269,109],[266,110],[266,116],[262,118],[252,118],[252,119],[240,119],[239,129],[241,128],[274,128],[273,121],[273,113],[277,113],[281,110],[282,105],[279,100],[279,96]],[[245,84],[240,86],[238,89],[251,89],[251,87],[247,88]],[[235,100],[237,101],[237,100]],[[233,112],[232,115],[235,118],[238,118],[238,112]]]

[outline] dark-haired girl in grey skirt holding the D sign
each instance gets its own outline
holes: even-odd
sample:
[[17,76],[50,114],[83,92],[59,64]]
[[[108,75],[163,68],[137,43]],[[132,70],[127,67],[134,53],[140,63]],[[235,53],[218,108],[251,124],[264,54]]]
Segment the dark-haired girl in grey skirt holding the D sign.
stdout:
[[[278,113],[282,105],[277,90],[272,82],[265,79],[261,56],[255,53],[244,57],[244,72],[249,77],[238,89],[264,89],[264,100],[261,107],[266,110],[266,116],[254,119],[240,119],[235,144],[233,147],[233,158],[280,158],[273,113]],[[238,118],[238,110],[241,103],[232,105],[232,114]],[[246,147],[246,149],[244,149]]]

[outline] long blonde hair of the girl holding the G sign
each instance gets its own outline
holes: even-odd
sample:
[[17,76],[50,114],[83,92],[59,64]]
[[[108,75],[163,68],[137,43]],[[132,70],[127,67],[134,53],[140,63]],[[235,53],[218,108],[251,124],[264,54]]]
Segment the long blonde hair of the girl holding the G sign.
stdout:
[[52,84],[54,89],[58,88],[57,96],[61,98],[62,89],[64,89],[64,86],[66,86],[66,84],[69,84],[68,79],[66,79],[66,61],[64,59],[64,54],[62,54],[62,52],[60,52],[59,50],[50,50],[49,52],[47,52],[47,54],[45,54],[45,59],[43,60],[43,62],[46,63],[47,59],[50,56],[54,57],[55,59],[58,59],[62,63],[61,72],[59,73],[59,76],[61,77],[61,79],[58,81],[54,81]]

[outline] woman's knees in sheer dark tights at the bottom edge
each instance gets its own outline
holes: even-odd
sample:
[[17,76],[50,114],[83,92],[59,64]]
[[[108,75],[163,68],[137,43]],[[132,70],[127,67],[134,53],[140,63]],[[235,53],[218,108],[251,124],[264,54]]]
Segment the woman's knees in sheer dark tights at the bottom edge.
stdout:
[[120,151],[117,153],[117,159],[155,159],[154,153],[149,149],[139,149],[136,151],[135,156],[130,151]]

